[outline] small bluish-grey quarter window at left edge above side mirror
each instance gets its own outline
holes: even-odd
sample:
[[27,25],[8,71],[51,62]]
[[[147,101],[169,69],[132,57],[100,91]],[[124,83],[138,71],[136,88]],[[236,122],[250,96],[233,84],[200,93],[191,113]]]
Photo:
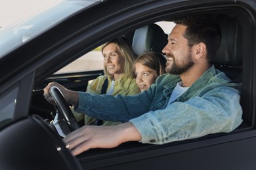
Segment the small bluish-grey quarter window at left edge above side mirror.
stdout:
[[0,128],[13,120],[18,87],[0,96]]

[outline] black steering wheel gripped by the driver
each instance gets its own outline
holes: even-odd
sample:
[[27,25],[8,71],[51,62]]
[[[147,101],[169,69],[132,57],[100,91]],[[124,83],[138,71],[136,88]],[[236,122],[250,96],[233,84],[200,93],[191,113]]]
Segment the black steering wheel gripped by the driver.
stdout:
[[60,122],[60,128],[67,129],[68,127],[70,132],[74,131],[75,129],[79,129],[79,124],[75,120],[75,116],[72,110],[70,109],[68,102],[64,99],[64,95],[62,94],[62,92],[60,92],[60,90],[56,86],[53,86],[50,88],[49,93],[52,95],[57,106],[57,108],[55,107],[55,109],[56,112],[59,114],[58,116],[60,116],[61,119],[58,120]]

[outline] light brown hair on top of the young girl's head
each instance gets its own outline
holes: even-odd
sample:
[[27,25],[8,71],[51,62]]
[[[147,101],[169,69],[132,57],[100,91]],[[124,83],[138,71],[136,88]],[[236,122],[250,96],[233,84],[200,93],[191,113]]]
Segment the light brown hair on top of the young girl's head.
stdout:
[[135,64],[139,62],[150,69],[154,69],[158,76],[160,76],[165,73],[166,61],[165,56],[159,52],[145,52],[138,56]]

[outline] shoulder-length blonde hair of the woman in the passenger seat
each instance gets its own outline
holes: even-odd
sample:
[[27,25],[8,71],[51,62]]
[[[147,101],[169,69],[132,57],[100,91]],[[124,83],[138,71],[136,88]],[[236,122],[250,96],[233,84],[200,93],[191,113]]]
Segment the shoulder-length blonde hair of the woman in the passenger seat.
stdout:
[[[125,37],[119,37],[112,41],[106,42],[106,44],[102,45],[101,52],[108,44],[114,43],[117,45],[117,48],[121,52],[121,55],[125,58],[125,68],[123,72],[123,76],[127,78],[134,78],[135,73],[133,71],[133,62],[136,58],[135,53],[133,52],[133,48],[129,44],[129,41]],[[114,75],[110,75],[104,65],[104,74],[108,75],[110,78],[113,78]]]

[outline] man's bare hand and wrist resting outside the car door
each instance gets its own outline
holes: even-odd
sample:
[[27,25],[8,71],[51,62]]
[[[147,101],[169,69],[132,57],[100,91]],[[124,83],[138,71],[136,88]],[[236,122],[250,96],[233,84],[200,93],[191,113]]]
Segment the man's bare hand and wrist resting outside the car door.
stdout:
[[75,156],[90,148],[114,148],[127,141],[140,141],[141,136],[133,124],[125,123],[118,126],[83,126],[63,140]]

